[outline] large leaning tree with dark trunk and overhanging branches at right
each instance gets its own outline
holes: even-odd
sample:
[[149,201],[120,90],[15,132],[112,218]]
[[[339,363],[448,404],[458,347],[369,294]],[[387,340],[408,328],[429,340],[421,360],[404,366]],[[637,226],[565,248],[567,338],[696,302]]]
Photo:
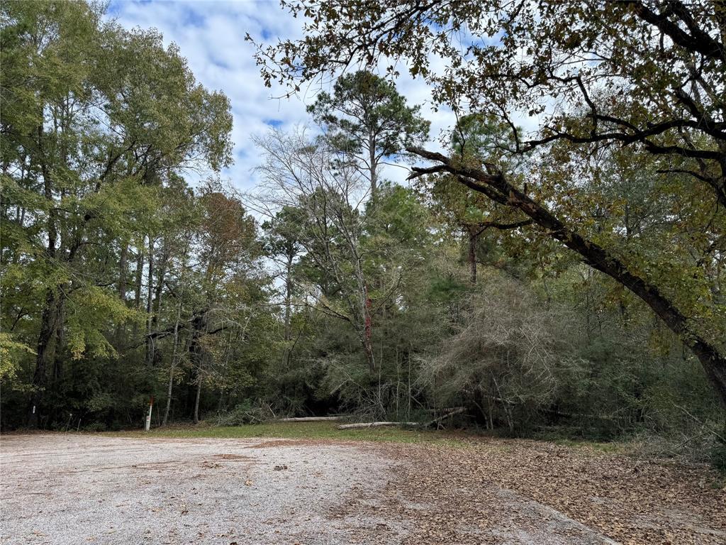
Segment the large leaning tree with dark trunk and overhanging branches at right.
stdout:
[[[373,65],[388,57],[407,60],[410,73],[431,84],[438,102],[499,115],[510,125],[513,151],[537,153],[539,166],[526,184],[491,165],[414,147],[410,153],[434,163],[415,169],[415,176],[454,175],[521,219],[531,219],[628,288],[690,347],[726,405],[725,305],[717,280],[726,251],[722,3],[286,5],[309,17],[305,38],[258,49],[267,82],[310,81],[340,66]],[[434,54],[450,68],[434,70]],[[531,137],[512,122],[513,112],[522,110],[542,118]],[[648,241],[626,249],[622,230],[613,223],[613,217],[624,217],[621,199],[597,203],[605,205],[607,222],[586,218],[581,211],[592,211],[592,202],[580,179],[567,177],[576,169],[547,168],[560,159],[572,166],[568,158],[579,153],[587,156],[590,182],[596,183],[599,171],[590,167],[603,150],[615,164],[626,153],[637,156],[653,178],[668,181],[659,185],[666,198],[698,203],[701,213],[690,214],[688,224],[677,228],[684,236],[704,233],[690,256],[677,252],[682,258],[674,265],[667,253],[653,256]]]

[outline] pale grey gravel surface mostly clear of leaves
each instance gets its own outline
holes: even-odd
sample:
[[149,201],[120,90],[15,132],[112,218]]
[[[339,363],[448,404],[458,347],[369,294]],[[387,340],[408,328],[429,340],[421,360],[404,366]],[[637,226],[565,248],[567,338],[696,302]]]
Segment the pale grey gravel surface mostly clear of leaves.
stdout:
[[[420,501],[411,496],[406,468],[417,459],[401,456],[401,448],[307,440],[4,436],[0,542],[410,543],[444,506],[436,493]],[[497,485],[486,494],[500,520],[444,520],[436,532],[455,531],[439,534],[436,542],[460,543],[468,536],[467,542],[502,544],[612,543]],[[488,513],[484,509],[481,516]]]

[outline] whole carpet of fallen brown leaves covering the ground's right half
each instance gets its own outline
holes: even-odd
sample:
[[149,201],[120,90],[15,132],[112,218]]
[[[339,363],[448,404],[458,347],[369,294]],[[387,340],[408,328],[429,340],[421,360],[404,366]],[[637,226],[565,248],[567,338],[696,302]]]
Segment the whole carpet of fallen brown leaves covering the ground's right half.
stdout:
[[383,448],[399,478],[344,510],[398,521],[409,544],[726,543],[726,490],[706,467],[526,440]]

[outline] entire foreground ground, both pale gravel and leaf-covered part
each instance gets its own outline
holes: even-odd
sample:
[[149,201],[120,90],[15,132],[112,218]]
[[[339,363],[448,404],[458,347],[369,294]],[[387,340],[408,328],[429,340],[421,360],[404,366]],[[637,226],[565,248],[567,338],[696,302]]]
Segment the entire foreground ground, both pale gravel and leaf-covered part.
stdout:
[[726,544],[704,468],[470,447],[0,438],[1,544]]

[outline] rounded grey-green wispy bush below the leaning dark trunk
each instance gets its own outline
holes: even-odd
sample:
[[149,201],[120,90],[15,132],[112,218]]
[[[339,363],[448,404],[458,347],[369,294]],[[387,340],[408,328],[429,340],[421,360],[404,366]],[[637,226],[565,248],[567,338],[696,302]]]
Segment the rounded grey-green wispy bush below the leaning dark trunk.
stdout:
[[534,423],[558,387],[570,347],[570,316],[550,310],[526,286],[492,278],[465,302],[458,331],[425,360],[422,379],[436,405],[465,405],[511,432]]

